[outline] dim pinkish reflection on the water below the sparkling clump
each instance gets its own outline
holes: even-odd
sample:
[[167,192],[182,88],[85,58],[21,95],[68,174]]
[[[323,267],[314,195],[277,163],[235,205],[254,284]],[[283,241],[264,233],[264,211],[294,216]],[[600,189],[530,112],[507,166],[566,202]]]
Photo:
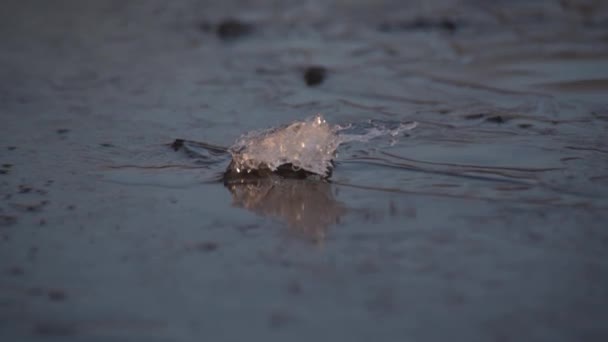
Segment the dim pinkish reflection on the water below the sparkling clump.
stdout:
[[272,176],[226,186],[234,205],[281,219],[292,232],[314,241],[322,240],[346,211],[334,199],[330,184],[323,181]]

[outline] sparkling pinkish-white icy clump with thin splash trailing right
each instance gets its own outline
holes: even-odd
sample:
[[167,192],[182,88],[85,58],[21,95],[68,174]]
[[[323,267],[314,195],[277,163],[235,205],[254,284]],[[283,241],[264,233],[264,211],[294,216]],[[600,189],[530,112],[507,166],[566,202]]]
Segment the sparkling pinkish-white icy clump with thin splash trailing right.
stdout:
[[396,137],[415,126],[416,123],[398,124],[389,129],[371,125],[363,131],[347,134],[353,125],[331,126],[321,114],[317,114],[287,126],[243,135],[229,149],[231,165],[237,173],[247,173],[259,169],[276,171],[281,165],[291,164],[295,171],[305,170],[327,176],[340,144],[366,142],[385,135]]

